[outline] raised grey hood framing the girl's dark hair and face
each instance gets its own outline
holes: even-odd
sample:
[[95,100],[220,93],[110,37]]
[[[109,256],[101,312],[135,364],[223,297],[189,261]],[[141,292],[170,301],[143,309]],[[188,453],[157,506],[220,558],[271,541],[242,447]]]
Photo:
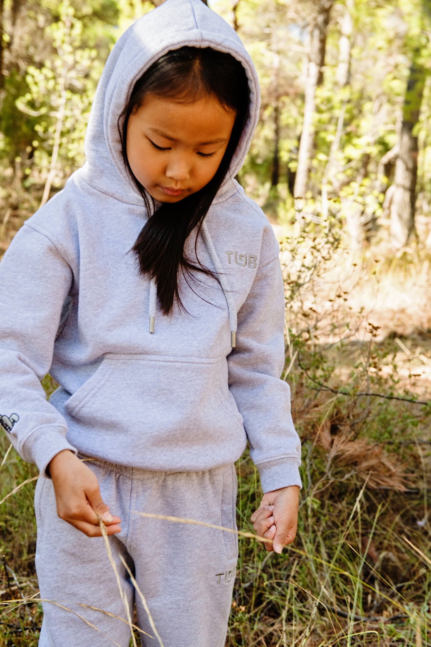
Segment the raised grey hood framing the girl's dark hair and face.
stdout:
[[[169,50],[185,45],[227,52],[246,70],[250,89],[249,118],[233,155],[229,169],[231,177],[240,170],[258,120],[259,85],[253,61],[235,30],[202,0],[166,0],[124,32],[101,74],[85,135],[87,162],[78,171],[96,190],[123,203],[142,205],[142,196],[124,166],[118,117],[143,72]],[[226,177],[215,202],[227,192],[229,185],[233,188],[231,178]]]

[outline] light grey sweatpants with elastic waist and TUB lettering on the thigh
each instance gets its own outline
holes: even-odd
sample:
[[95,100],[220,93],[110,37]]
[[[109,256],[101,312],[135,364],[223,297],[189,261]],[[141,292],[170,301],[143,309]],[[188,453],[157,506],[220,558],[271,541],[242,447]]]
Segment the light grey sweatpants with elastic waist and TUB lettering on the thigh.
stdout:
[[[121,518],[121,533],[109,541],[130,609],[136,600],[140,628],[154,635],[120,555],[147,600],[164,647],[222,647],[235,580],[237,536],[143,518],[133,512],[185,517],[236,529],[234,466],[169,474],[102,461],[87,465],[98,477],[103,501]],[[127,624],[77,604],[126,617],[103,538],[89,538],[57,516],[54,488],[48,479],[37,481],[35,507],[41,598],[73,612],[43,603],[39,647],[107,647],[112,641],[128,647]],[[142,644],[158,647],[155,637],[142,636]]]

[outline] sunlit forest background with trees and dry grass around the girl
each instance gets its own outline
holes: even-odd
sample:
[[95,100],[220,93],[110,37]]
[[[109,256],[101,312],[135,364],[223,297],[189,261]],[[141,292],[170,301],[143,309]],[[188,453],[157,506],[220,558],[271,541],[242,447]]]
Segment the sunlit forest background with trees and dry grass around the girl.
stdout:
[[[157,4],[0,0],[0,256],[85,161],[110,49]],[[428,645],[431,0],[209,5],[261,83],[238,181],[280,241],[304,483],[293,547],[240,538],[227,644]],[[0,451],[0,646],[31,647],[37,474],[5,434]],[[238,476],[249,531],[247,455]]]

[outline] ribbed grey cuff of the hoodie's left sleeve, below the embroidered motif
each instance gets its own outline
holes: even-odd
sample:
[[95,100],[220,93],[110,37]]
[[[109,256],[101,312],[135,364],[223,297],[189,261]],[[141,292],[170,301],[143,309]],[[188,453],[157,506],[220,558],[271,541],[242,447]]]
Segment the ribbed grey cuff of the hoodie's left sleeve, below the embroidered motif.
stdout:
[[39,427],[26,439],[23,457],[26,461],[36,463],[39,472],[47,476],[47,466],[50,461],[65,449],[77,454],[76,449],[66,440],[64,427]]

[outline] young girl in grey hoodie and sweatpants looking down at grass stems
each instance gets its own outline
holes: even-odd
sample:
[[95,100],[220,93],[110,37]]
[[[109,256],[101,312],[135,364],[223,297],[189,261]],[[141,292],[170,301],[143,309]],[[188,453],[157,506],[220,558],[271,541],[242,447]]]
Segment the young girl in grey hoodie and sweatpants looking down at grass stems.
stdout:
[[[278,553],[295,537],[279,247],[233,179],[257,119],[257,74],[235,32],[200,0],[167,0],[116,43],[87,162],[1,262],[1,421],[42,475],[41,598],[74,611],[43,604],[42,647],[129,644],[100,518],[129,608],[120,556],[165,647],[224,645],[235,534],[136,512],[235,529],[247,440],[264,492],[255,531]],[[50,402],[48,371],[61,385]]]

